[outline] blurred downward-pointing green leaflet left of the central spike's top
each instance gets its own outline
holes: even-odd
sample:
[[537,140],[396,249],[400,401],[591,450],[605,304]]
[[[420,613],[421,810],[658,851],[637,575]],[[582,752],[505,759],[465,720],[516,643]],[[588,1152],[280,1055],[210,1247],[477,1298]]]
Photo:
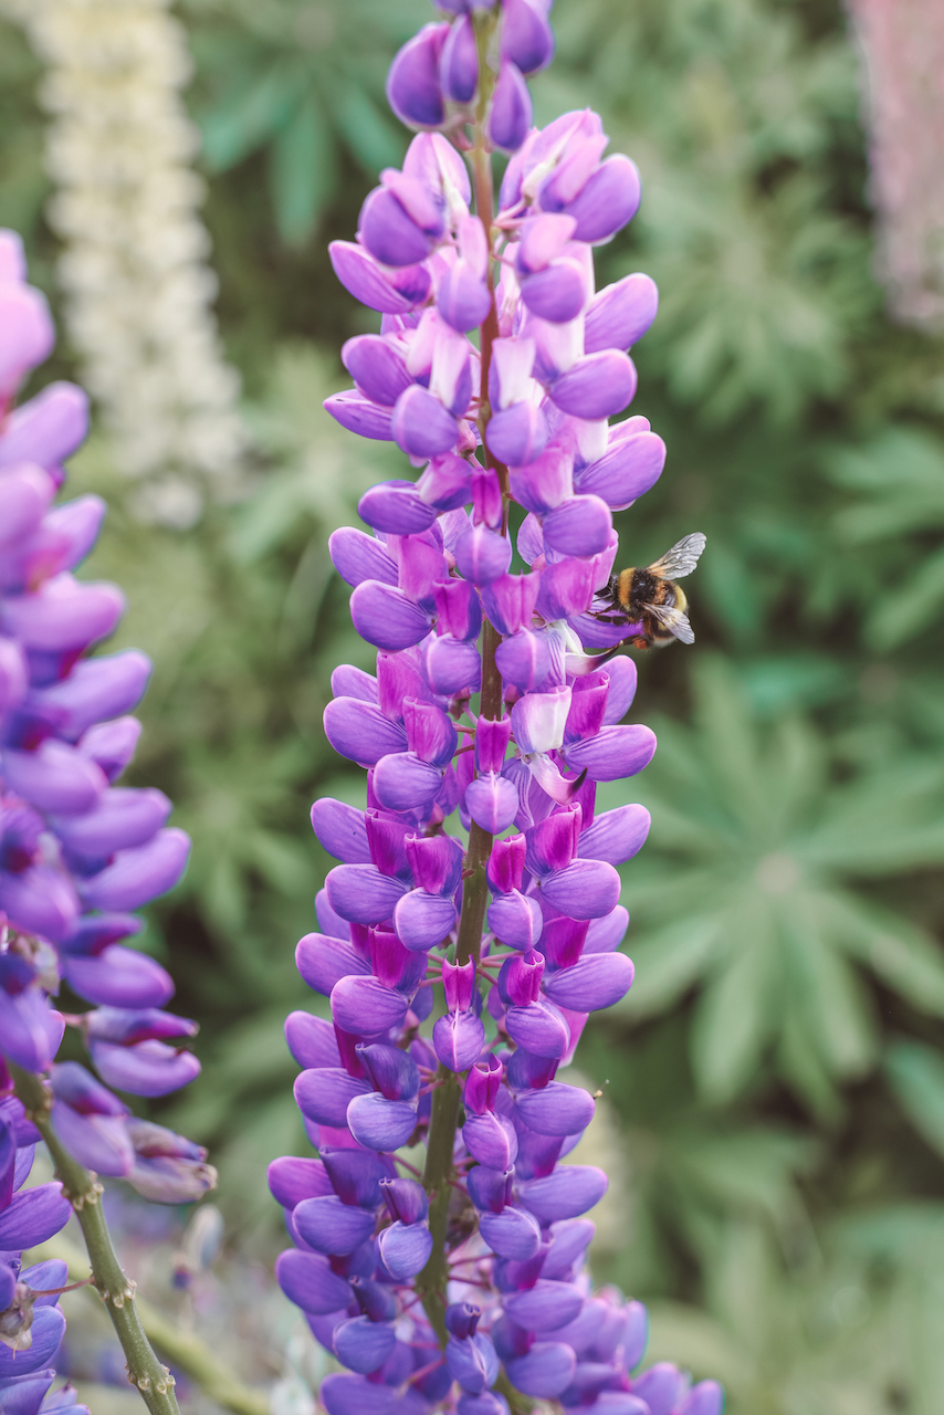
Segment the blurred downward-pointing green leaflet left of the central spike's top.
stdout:
[[270,177],[279,233],[290,246],[303,245],[338,183],[337,154],[317,93],[306,93],[276,134]]

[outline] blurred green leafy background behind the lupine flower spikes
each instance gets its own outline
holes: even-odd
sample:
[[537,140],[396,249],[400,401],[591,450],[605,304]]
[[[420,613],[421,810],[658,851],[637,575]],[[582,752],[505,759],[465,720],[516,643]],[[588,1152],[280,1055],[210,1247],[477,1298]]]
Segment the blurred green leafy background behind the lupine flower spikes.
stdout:
[[[89,573],[153,654],[136,780],[194,835],[151,911],[204,1077],[166,1114],[211,1143],[245,1230],[262,1167],[303,1152],[280,1020],[318,1006],[292,944],[328,860],[316,794],[357,799],[320,716],[365,665],[327,532],[402,475],[320,400],[371,327],[324,242],[351,235],[405,134],[391,52],[423,0],[188,0],[219,314],[262,450],[248,502],[188,535],[136,526],[100,444],[72,487],[112,516]],[[838,0],[558,0],[538,119],[592,102],[640,164],[599,283],[648,270],[634,350],[662,481],[627,563],[702,529],[693,649],[640,659],[660,751],[626,869],[638,981],[580,1064],[620,1119],[631,1206],[600,1276],[655,1299],[654,1348],[718,1371],[732,1415],[937,1415],[944,1258],[944,374],[870,276],[856,55]],[[4,30],[3,37],[7,38]],[[37,68],[0,42],[0,221],[40,218]],[[395,470],[399,468],[399,470]],[[620,788],[627,791],[627,788]],[[627,798],[600,791],[600,805]]]

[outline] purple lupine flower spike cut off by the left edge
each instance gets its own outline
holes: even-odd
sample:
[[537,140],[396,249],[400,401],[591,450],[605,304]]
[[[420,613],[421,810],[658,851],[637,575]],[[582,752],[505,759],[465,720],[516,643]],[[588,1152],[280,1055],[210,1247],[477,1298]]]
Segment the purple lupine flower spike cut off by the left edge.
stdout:
[[[181,1050],[195,1024],[161,1010],[167,972],[120,944],[143,927],[132,911],[177,883],[190,841],[166,826],[161,791],[113,785],[134,751],[140,723],[127,713],[150,662],[136,649],[85,657],[123,611],[116,586],[72,573],[105,502],[52,505],[86,433],[86,399],[51,383],[14,408],[52,344],[21,242],[0,231],[0,1409],[16,1415],[74,1404],[68,1392],[45,1399],[65,1264],[20,1271],[21,1251],[57,1234],[71,1206],[59,1183],[18,1193],[40,1133],[6,1061],[50,1075],[52,1126],[79,1163],[164,1203],[214,1183],[205,1150],[134,1119],[108,1090],[166,1095],[200,1071]],[[62,1016],[51,1003],[62,981],[95,1006]],[[54,1064],[67,1023],[106,1085],[75,1061]]]

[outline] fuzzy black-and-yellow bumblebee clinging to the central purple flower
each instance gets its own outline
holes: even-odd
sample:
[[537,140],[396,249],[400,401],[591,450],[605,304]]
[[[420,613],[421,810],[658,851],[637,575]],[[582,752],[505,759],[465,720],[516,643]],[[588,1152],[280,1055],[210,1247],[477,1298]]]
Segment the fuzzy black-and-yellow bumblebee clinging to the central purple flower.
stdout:
[[[600,624],[641,624],[641,634],[623,641],[634,648],[671,644],[674,638],[682,644],[693,644],[695,635],[685,614],[688,600],[675,580],[692,573],[703,549],[705,536],[696,531],[667,550],[655,565],[618,570],[610,576],[606,589],[596,594],[590,614]],[[617,648],[623,648],[623,644]]]

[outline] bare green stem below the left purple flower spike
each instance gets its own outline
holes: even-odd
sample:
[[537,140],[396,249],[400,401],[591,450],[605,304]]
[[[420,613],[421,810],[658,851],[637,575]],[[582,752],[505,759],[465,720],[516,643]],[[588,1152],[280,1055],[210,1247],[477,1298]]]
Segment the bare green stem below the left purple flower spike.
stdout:
[[52,1098],[38,1075],[8,1063],[18,1098],[47,1143],[62,1193],[72,1204],[82,1228],[92,1265],[92,1285],[108,1307],[127,1363],[127,1378],[140,1392],[151,1415],[180,1415],[174,1377],[154,1356],[134,1305],[134,1283],[129,1282],[112,1247],[112,1235],[99,1203],[103,1193],[98,1176],[72,1159],[50,1122]]

